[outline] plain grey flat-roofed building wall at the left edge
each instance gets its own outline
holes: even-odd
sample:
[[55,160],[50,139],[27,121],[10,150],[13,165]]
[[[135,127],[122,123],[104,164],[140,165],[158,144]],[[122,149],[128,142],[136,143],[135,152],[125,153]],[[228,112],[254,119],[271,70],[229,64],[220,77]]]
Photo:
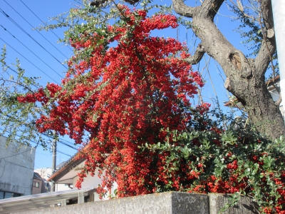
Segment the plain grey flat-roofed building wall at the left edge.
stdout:
[[0,190],[31,195],[35,149],[10,143],[0,136]]

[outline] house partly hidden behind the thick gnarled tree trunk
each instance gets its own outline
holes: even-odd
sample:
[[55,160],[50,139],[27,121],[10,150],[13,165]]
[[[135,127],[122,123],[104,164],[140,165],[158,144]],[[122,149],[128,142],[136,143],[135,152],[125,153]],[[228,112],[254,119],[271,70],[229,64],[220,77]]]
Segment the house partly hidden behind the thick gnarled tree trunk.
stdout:
[[[271,97],[273,98],[274,101],[279,100],[279,91],[280,91],[280,76],[276,76],[275,78],[271,78],[268,81],[265,82],[267,89],[269,93],[271,94]],[[283,107],[284,101],[280,103],[279,109],[284,117],[284,107]],[[230,101],[227,101],[224,103],[224,106],[229,106],[229,107],[238,107],[242,108],[242,103],[239,103],[237,101],[237,98],[234,98]]]

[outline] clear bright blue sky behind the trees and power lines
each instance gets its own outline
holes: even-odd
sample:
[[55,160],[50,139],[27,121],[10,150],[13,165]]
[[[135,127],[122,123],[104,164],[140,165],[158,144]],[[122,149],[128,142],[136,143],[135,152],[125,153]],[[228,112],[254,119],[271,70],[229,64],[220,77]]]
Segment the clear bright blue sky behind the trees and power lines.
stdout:
[[[186,1],[186,4],[187,2],[190,1]],[[26,70],[26,75],[41,77],[38,83],[42,86],[46,86],[47,82],[56,81],[60,83],[61,76],[64,76],[64,71],[66,71],[66,65],[63,65],[62,62],[73,56],[73,51],[70,47],[57,43],[58,36],[63,37],[64,29],[48,32],[40,31],[40,33],[32,29],[42,24],[41,21],[48,21],[48,17],[68,11],[71,7],[75,7],[76,4],[76,1],[73,0],[0,0],[0,46],[2,49],[4,44],[6,44],[7,63],[14,63],[15,59],[19,58],[21,67]],[[171,1],[157,0],[155,4],[171,4]],[[224,4],[219,11],[219,15],[217,15],[216,24],[237,49],[244,51],[244,46],[240,44],[239,34],[233,31],[237,24],[228,17],[229,15],[227,6]],[[155,35],[177,38],[177,29],[157,31]],[[190,29],[186,32],[184,26],[179,27],[178,39],[187,41],[190,51],[194,53],[195,46],[199,44],[199,39],[195,39],[192,36]],[[219,105],[223,106],[223,101],[227,101],[229,94],[223,86],[223,78],[225,77],[222,69],[213,60],[209,60],[208,56],[205,56],[199,66],[193,66],[193,70],[199,70],[204,77],[204,81],[206,81],[206,85],[202,89],[204,101],[211,103],[217,94]],[[224,110],[229,111],[226,108]],[[76,150],[63,143],[72,145],[73,141],[68,137],[61,137],[61,143],[58,143],[57,164],[68,160],[70,156],[76,153]],[[37,148],[35,168],[50,166],[51,152]]]

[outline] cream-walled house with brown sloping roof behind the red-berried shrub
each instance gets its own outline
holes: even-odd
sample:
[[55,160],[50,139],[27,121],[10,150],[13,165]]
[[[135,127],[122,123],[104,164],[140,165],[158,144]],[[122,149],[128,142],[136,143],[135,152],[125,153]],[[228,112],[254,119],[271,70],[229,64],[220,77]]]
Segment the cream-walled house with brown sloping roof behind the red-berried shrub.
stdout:
[[[86,146],[86,148],[88,148],[88,146]],[[64,184],[69,188],[75,187],[76,181],[78,180],[78,173],[80,173],[83,169],[84,161],[86,160],[78,159],[76,155],[71,157],[68,161],[66,161],[64,165],[62,165],[61,168],[58,168],[58,170],[56,170],[56,172],[53,173],[50,178],[48,178],[48,181],[54,183],[54,185]],[[98,178],[97,173],[98,170],[95,171],[94,177],[88,174],[87,177],[84,178],[82,188],[86,188],[88,186],[93,186],[94,188],[98,187],[98,185],[101,183],[101,178]],[[108,192],[113,193],[115,188],[116,184],[114,184],[112,190],[109,190]],[[107,199],[107,197],[105,199]],[[99,195],[97,193],[94,193],[94,195],[91,195],[85,200],[88,202],[100,199]]]

